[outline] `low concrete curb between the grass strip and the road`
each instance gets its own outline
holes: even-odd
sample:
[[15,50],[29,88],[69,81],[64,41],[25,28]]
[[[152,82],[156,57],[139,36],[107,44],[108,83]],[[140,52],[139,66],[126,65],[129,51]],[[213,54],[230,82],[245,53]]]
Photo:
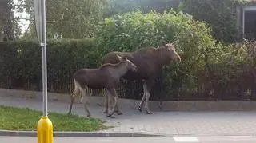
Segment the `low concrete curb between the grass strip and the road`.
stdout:
[[[0,136],[37,137],[36,131],[0,130]],[[151,133],[54,132],[54,137],[163,137]]]

